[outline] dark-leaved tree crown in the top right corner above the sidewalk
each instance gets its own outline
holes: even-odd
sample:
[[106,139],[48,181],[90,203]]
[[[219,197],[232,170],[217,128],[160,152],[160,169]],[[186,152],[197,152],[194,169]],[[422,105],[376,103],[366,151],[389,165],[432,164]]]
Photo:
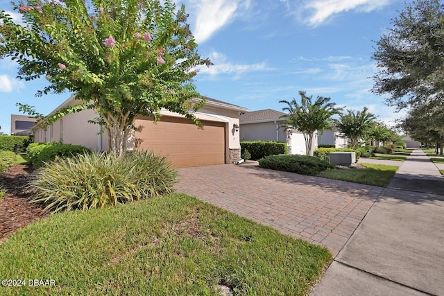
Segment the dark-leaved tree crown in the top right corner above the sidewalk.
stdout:
[[444,95],[444,6],[438,0],[412,1],[376,42],[375,94],[388,105],[414,107]]

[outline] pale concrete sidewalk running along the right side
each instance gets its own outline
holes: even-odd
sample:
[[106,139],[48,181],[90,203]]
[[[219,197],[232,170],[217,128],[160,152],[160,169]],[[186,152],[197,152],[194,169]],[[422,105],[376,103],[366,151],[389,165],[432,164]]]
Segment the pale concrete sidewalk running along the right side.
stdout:
[[444,177],[414,150],[311,295],[444,295]]

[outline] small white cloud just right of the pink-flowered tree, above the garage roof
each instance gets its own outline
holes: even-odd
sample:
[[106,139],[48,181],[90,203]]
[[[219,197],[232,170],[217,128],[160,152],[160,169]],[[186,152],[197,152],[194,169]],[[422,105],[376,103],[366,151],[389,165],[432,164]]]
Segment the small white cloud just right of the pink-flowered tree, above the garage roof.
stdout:
[[218,76],[219,74],[234,74],[234,78],[239,78],[242,74],[256,71],[270,71],[271,68],[266,67],[265,62],[255,64],[234,64],[225,57],[225,55],[216,51],[210,55],[210,60],[214,65],[210,67],[200,67],[200,74],[208,74],[210,76]]

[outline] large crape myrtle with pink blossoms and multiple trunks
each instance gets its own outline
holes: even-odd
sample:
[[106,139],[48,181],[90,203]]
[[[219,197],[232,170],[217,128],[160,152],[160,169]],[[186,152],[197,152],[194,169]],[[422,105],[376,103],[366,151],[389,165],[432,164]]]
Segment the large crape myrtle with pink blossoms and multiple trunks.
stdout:
[[14,4],[23,25],[0,11],[0,56],[19,64],[18,78],[46,77],[37,95],[72,92],[82,102],[46,123],[85,108],[99,114],[117,155],[135,130],[137,115],[158,119],[162,108],[198,124],[205,101],[192,78],[200,58],[185,6],[171,0],[65,0]]

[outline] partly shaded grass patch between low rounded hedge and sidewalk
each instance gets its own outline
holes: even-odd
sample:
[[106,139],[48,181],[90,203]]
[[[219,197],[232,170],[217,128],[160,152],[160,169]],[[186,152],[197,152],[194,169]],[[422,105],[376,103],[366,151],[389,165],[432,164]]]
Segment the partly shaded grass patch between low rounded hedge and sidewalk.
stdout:
[[385,187],[395,175],[398,166],[361,164],[366,168],[334,169],[321,172],[318,176],[361,184]]

